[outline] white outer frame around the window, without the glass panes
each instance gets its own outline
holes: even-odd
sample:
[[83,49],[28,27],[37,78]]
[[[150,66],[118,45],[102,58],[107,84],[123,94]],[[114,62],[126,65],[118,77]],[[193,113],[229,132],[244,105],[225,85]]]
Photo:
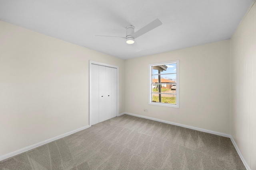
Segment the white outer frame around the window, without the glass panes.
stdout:
[[[179,69],[180,69],[180,61],[167,61],[167,62],[161,62],[161,63],[152,63],[148,64],[148,72],[149,72],[149,92],[148,92],[148,104],[150,105],[157,105],[157,106],[166,106],[166,107],[175,107],[179,108]],[[176,64],[176,104],[166,104],[166,103],[159,103],[159,102],[151,102],[152,101],[152,66],[158,66],[158,65],[165,65],[165,64]]]

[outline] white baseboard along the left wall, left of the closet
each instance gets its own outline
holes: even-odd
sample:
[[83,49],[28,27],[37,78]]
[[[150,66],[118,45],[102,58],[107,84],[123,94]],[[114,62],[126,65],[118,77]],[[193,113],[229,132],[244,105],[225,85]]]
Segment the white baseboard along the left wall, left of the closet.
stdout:
[[28,151],[28,150],[34,149],[34,148],[36,148],[36,147],[40,147],[40,146],[42,146],[42,145],[44,145],[44,144],[47,144],[47,143],[50,143],[50,142],[52,142],[52,141],[56,141],[57,139],[66,137],[66,136],[71,135],[71,134],[73,134],[73,133],[76,133],[76,132],[78,132],[78,131],[82,131],[82,130],[84,130],[84,129],[87,129],[88,127],[90,127],[90,126],[87,125],[87,126],[85,126],[85,127],[81,127],[81,128],[76,129],[76,130],[74,130],[74,131],[70,131],[70,132],[68,132],[68,133],[64,133],[64,134],[62,134],[62,135],[53,137],[53,138],[48,139],[48,140],[46,140],[46,141],[42,141],[42,142],[36,143],[36,144],[34,144],[34,145],[30,145],[30,146],[28,146],[28,147],[25,147],[25,148],[16,150],[16,151],[14,151],[14,152],[10,152],[10,153],[8,153],[8,154],[5,154],[5,155],[3,155],[3,156],[0,156],[0,161],[1,161],[1,160],[4,160],[4,159],[7,159],[7,158],[10,158],[10,157],[12,157],[12,156],[15,156],[15,155],[17,155],[17,154],[21,154],[22,152],[26,152],[26,151]]

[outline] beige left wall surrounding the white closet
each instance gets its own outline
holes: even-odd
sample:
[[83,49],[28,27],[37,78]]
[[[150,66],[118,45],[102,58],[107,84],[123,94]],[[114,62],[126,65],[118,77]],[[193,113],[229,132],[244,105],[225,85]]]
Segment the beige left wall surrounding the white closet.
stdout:
[[88,125],[89,60],[124,60],[0,21],[0,156]]

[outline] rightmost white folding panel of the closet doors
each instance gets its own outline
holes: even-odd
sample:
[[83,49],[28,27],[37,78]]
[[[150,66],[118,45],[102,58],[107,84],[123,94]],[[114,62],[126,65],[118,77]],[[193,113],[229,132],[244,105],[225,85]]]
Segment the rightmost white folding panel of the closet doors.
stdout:
[[111,118],[117,116],[117,69],[111,68]]

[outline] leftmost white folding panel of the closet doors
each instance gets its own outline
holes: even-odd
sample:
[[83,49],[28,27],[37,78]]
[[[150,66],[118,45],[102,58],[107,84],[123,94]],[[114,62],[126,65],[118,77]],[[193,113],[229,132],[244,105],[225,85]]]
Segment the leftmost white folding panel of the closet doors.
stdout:
[[99,123],[99,66],[91,65],[91,102],[90,124]]

